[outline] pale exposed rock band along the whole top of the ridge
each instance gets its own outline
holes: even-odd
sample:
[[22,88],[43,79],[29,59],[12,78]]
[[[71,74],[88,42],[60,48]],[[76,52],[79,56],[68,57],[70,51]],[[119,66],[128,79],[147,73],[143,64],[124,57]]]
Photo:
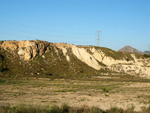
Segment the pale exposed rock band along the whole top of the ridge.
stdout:
[[[72,56],[89,67],[99,71],[109,69],[111,71],[127,73],[140,77],[150,78],[150,59],[135,54],[116,52],[107,48],[94,46],[75,46],[66,43],[49,43],[46,41],[4,41],[1,45],[6,51],[15,51],[20,59],[29,61],[37,56],[44,57],[51,53],[53,47],[55,53],[60,50],[68,63],[72,62]],[[62,56],[57,56],[59,59]]]

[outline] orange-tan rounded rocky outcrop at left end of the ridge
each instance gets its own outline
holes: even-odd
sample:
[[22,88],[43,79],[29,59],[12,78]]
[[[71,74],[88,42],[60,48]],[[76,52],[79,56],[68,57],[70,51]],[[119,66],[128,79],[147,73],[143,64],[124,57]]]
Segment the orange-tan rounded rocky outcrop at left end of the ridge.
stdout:
[[43,55],[49,50],[50,43],[42,41],[5,41],[1,47],[4,50],[17,51],[20,58],[30,60],[36,56]]

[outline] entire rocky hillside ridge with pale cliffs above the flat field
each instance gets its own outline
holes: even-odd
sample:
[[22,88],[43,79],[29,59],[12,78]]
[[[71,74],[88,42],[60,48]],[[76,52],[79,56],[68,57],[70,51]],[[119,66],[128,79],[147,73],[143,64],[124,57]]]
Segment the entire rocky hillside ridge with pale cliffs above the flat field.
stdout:
[[46,41],[1,41],[1,76],[87,76],[127,73],[150,77],[150,59],[108,48]]

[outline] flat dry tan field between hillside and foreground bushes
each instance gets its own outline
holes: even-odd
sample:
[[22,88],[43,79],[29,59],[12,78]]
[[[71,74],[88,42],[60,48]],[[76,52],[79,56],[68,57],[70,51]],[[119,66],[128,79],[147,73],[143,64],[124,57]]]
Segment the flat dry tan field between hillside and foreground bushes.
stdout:
[[77,79],[0,79],[0,105],[32,104],[132,108],[150,106],[150,80],[96,76]]

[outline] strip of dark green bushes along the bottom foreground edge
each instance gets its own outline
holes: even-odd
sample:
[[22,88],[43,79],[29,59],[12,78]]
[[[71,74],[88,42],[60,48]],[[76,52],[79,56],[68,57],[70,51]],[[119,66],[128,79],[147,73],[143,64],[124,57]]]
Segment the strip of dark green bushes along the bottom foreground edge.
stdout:
[[61,107],[59,106],[33,106],[33,105],[24,105],[20,104],[17,106],[0,106],[1,113],[149,113],[150,107],[143,109],[141,112],[134,111],[133,108],[123,110],[121,108],[112,107],[109,110],[102,110],[96,107],[81,107],[73,108],[64,104]]

